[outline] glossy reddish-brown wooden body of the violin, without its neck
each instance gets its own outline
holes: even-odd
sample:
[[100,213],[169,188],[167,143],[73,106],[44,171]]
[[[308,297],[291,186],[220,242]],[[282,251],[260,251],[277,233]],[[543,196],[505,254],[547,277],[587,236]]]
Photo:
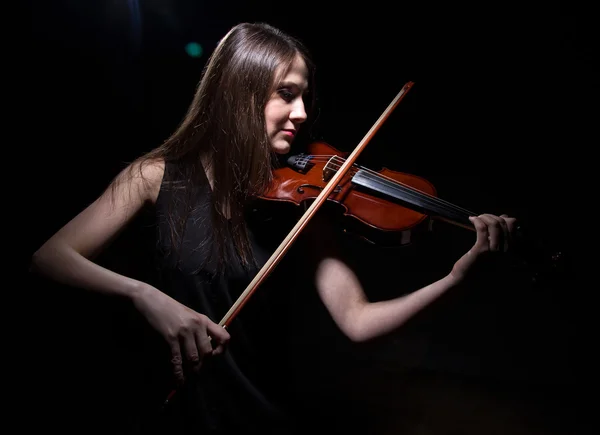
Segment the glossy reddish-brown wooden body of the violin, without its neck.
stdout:
[[[290,157],[286,166],[274,171],[273,183],[261,197],[295,205],[310,202],[346,156],[325,142],[314,142],[307,154]],[[340,208],[345,231],[378,245],[398,246],[414,242],[431,229],[433,208],[439,205],[436,194],[433,184],[422,177],[355,166],[335,186],[327,206]],[[457,219],[468,224],[465,216]]]

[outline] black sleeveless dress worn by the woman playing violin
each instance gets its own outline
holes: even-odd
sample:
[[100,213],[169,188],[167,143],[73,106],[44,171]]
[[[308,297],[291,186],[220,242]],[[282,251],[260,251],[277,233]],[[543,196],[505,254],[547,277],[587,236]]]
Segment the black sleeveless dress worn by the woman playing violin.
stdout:
[[[187,218],[182,249],[172,249],[168,216],[179,213],[184,191],[178,188],[179,171],[168,163],[156,203],[156,228],[159,272],[156,286],[176,300],[219,322],[251,281],[256,270],[244,270],[241,263],[230,263],[218,272],[211,257],[212,232],[208,180],[194,194],[195,207]],[[205,177],[206,178],[206,177]],[[272,216],[256,209],[248,212],[252,246],[261,267],[293,221],[280,214]],[[288,265],[294,264],[288,259]],[[294,356],[300,346],[291,339],[296,313],[305,302],[298,300],[298,277],[293,267],[276,270],[252,295],[228,327],[231,341],[223,355],[207,358],[200,374],[189,378],[164,408],[154,408],[145,420],[144,433],[201,434],[291,434],[300,433],[308,419],[298,420],[292,390],[292,367],[301,358]],[[163,349],[166,351],[166,348]],[[168,392],[171,367],[168,354],[155,356],[161,361],[154,367],[154,392]],[[163,393],[163,394],[164,394]]]

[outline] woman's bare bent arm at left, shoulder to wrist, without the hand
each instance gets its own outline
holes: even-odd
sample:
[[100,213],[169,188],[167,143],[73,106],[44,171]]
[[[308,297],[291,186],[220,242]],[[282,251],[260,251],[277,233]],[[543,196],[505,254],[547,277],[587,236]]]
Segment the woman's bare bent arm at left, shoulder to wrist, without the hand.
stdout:
[[[141,173],[140,173],[141,172]],[[140,281],[92,261],[160,189],[163,162],[122,171],[100,197],[47,240],[32,258],[32,271],[62,284],[134,299],[147,290]]]

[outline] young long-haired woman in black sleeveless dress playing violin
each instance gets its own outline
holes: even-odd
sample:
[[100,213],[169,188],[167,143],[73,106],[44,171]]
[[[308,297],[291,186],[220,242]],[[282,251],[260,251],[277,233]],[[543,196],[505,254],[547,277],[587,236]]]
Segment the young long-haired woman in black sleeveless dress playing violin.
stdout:
[[[286,263],[286,272],[275,269],[239,319],[220,325],[281,241],[275,226],[253,213],[274,181],[278,159],[310,120],[313,100],[314,67],[298,40],[265,24],[235,26],[212,53],[176,131],[125,168],[33,255],[33,269],[42,276],[129,301],[166,345],[156,363],[170,365],[177,394],[162,430],[294,432],[290,422],[300,428],[303,419],[281,417],[285,413],[270,402],[290,382],[290,374],[276,368],[292,355],[282,337],[299,328],[294,321],[310,321],[301,300],[311,290],[343,334],[368,341],[402,327],[464,281],[483,254],[508,249],[515,219],[471,216],[475,243],[446,276],[408,295],[370,303],[336,250],[328,220],[318,214],[298,242],[310,246],[311,255],[297,263],[290,253],[294,261]],[[93,261],[148,209],[156,219],[156,285]],[[289,305],[277,305],[284,303]],[[253,360],[271,357],[261,367]]]

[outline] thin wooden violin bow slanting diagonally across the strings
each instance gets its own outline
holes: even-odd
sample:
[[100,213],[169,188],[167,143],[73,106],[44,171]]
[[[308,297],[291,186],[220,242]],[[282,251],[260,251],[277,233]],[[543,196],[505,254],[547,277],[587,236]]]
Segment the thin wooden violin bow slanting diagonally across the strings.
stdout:
[[317,212],[319,207],[327,200],[327,197],[331,194],[335,186],[338,185],[339,181],[346,175],[346,173],[352,168],[352,165],[358,158],[359,154],[364,150],[367,146],[371,138],[375,135],[375,133],[379,130],[381,125],[386,121],[386,119],[390,116],[392,111],[396,108],[396,106],[402,101],[406,93],[412,88],[414,82],[407,82],[400,92],[396,95],[396,97],[392,100],[392,102],[388,105],[388,107],[381,114],[379,119],[373,124],[371,129],[367,132],[367,134],[363,137],[357,147],[352,151],[352,153],[348,156],[344,164],[341,168],[335,173],[335,175],[329,180],[327,185],[323,188],[319,196],[313,201],[311,206],[304,212],[300,220],[296,223],[294,228],[289,232],[289,234],[285,237],[285,239],[281,242],[279,247],[273,252],[269,260],[264,264],[264,266],[260,269],[260,271],[256,274],[254,279],[248,284],[246,289],[240,294],[235,303],[231,306],[229,311],[225,313],[221,321],[219,322],[220,326],[227,328],[233,318],[237,315],[237,313],[242,309],[245,303],[248,301],[250,296],[256,291],[258,286],[268,277],[271,271],[275,268],[275,266],[281,261],[283,256],[287,253],[292,244],[296,241],[300,232],[306,227],[310,219]]

